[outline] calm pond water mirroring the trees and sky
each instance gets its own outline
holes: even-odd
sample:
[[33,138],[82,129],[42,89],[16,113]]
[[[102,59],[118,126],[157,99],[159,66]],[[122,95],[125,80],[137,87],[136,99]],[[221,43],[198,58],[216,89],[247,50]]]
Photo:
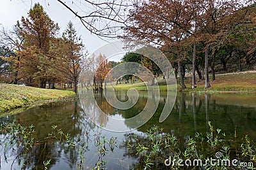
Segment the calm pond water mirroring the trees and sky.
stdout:
[[[132,169],[138,167],[138,157],[127,152],[125,140],[129,134],[145,134],[150,127],[163,127],[163,132],[175,136],[206,134],[209,124],[222,129],[227,136],[246,134],[256,141],[256,94],[193,94],[178,92],[172,112],[164,122],[159,117],[166,102],[166,92],[159,96],[156,113],[145,125],[134,129],[131,122],[113,124],[113,118],[131,118],[140,113],[147,104],[147,92],[139,92],[137,103],[129,110],[113,108],[102,93],[75,101],[38,106],[0,118],[2,125],[33,124],[35,143],[31,148],[12,138],[10,131],[1,132],[0,169]],[[127,101],[125,91],[116,92],[120,101]],[[95,102],[96,101],[96,102]],[[107,116],[97,113],[99,106]],[[82,109],[83,108],[83,109]],[[89,117],[90,118],[89,118]],[[127,132],[106,131],[92,122],[104,126],[126,129]],[[19,127],[20,128],[20,127]],[[22,129],[22,128],[21,128]],[[58,135],[59,136],[58,136]],[[62,137],[61,135],[62,134]],[[54,136],[56,135],[56,136]],[[54,136],[54,138],[51,136]],[[61,138],[61,139],[58,139]],[[12,141],[10,143],[10,141]],[[24,143],[23,143],[24,144]],[[10,145],[10,146],[9,146]],[[139,168],[140,169],[140,168]]]

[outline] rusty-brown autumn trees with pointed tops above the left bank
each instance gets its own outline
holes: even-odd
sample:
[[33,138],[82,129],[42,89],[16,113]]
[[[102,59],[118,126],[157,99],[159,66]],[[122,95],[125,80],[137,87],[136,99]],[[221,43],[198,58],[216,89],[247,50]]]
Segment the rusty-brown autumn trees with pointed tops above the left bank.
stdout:
[[86,59],[86,49],[72,22],[60,35],[60,27],[36,3],[28,17],[21,17],[13,29],[0,32],[1,83],[24,83],[54,89],[56,83],[73,86]]

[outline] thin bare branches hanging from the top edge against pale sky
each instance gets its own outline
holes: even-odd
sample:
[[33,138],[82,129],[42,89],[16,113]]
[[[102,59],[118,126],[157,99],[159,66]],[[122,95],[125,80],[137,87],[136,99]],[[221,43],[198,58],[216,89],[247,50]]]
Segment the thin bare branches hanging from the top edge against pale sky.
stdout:
[[129,25],[129,9],[136,3],[136,0],[74,0],[71,4],[63,0],[57,1],[79,18],[88,31],[102,38],[117,38],[122,34],[122,27]]

